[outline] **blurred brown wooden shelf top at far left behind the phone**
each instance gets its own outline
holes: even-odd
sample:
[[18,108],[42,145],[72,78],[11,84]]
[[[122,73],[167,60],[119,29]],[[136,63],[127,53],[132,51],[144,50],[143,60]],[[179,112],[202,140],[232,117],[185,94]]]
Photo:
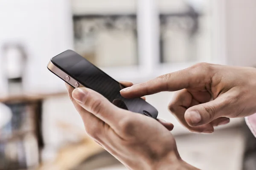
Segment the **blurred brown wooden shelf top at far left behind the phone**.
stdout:
[[55,96],[67,96],[67,92],[59,93],[38,93],[38,94],[19,94],[19,95],[10,95],[10,96],[0,96],[0,102],[29,102],[35,100],[43,100],[49,97]]

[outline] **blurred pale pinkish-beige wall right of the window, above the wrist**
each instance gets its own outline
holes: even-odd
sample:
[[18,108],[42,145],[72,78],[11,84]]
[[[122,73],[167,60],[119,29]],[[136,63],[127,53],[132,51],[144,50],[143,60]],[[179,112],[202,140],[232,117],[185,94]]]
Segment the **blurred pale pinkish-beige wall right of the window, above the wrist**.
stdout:
[[226,0],[228,64],[256,66],[256,1]]

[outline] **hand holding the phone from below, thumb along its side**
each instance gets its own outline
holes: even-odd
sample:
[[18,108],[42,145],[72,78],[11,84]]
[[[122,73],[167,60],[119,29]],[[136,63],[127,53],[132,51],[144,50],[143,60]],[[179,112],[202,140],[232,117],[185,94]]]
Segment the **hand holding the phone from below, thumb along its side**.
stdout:
[[91,89],[67,89],[88,135],[129,169],[193,170],[180,159],[172,124],[118,108]]

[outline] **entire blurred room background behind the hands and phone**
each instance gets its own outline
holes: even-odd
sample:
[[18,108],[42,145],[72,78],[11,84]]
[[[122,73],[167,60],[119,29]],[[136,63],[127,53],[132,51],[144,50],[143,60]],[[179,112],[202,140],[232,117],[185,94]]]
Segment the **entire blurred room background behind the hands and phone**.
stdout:
[[[116,80],[140,83],[197,62],[256,66],[253,0],[0,0],[0,170],[125,170],[84,132],[64,82],[47,70],[73,49]],[[173,122],[182,159],[207,170],[255,170],[243,119],[192,134]]]

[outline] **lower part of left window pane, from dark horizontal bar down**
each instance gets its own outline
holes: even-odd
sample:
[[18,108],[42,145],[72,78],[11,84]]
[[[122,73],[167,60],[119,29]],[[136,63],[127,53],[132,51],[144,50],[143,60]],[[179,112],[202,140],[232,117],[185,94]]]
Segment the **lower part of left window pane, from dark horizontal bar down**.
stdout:
[[75,49],[97,66],[137,64],[135,15],[81,16],[74,19]]

